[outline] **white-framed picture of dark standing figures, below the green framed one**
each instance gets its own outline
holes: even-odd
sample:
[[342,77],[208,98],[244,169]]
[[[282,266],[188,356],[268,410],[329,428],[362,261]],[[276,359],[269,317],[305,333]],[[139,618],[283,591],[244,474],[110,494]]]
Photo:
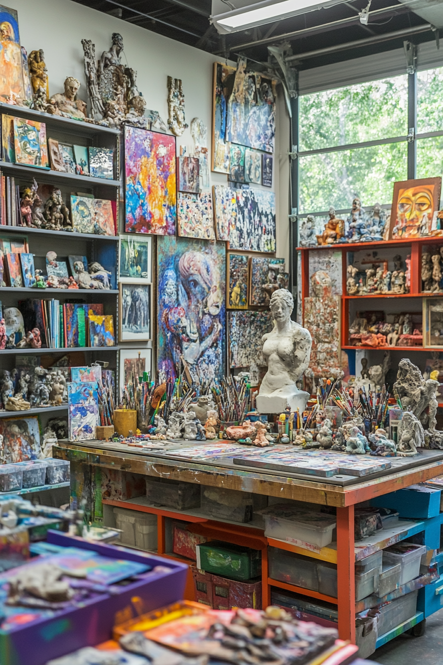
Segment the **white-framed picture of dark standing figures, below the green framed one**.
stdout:
[[120,282],[120,342],[151,339],[151,285]]

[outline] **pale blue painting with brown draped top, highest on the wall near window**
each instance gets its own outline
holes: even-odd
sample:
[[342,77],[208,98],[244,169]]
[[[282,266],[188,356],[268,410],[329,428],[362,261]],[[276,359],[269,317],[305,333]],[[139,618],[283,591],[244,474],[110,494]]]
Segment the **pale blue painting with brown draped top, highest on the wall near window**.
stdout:
[[246,72],[246,59],[239,58],[227,104],[226,140],[274,152],[275,116],[275,82],[257,72]]

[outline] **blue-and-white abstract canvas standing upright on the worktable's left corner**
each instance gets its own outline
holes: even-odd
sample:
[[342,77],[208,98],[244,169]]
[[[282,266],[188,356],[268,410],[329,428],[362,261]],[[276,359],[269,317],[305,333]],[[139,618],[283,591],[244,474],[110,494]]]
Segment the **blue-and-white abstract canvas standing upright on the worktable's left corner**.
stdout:
[[95,382],[68,383],[68,436],[70,441],[96,438],[100,425]]

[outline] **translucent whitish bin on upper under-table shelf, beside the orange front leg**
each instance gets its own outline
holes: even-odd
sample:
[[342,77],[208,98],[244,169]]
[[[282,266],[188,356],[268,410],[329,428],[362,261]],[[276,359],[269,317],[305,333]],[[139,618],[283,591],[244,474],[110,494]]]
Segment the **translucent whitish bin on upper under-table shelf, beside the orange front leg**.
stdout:
[[257,512],[264,517],[264,535],[288,543],[298,541],[326,547],[337,524],[331,515],[303,510],[291,503],[277,503]]

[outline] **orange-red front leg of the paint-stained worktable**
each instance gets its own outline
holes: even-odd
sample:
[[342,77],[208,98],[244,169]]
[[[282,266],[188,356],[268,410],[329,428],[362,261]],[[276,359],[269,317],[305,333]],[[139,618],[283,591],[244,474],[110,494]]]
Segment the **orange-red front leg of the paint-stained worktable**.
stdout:
[[339,638],[355,644],[354,507],[337,508]]

